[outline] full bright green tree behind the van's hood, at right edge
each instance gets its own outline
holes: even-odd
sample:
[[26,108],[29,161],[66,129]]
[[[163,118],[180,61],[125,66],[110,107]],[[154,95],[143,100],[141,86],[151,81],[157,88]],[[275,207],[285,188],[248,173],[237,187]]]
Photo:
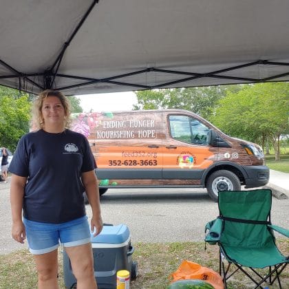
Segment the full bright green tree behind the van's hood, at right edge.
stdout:
[[219,100],[211,122],[231,136],[260,142],[266,139],[279,160],[279,139],[288,130],[289,84],[259,83]]

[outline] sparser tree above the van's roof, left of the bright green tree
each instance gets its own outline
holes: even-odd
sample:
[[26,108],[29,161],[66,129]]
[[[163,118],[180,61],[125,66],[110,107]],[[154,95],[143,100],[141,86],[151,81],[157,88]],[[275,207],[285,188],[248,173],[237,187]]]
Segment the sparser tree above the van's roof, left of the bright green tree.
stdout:
[[133,109],[187,109],[204,118],[213,113],[213,108],[232,86],[209,86],[176,89],[155,89],[136,92],[138,105]]

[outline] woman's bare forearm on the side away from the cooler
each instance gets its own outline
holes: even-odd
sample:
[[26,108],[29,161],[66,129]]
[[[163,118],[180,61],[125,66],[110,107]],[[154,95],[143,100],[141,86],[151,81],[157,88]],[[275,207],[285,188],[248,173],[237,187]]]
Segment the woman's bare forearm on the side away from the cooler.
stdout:
[[27,178],[12,174],[10,184],[12,238],[19,243],[24,243],[24,239],[26,236],[25,226],[22,221],[22,206],[26,181]]

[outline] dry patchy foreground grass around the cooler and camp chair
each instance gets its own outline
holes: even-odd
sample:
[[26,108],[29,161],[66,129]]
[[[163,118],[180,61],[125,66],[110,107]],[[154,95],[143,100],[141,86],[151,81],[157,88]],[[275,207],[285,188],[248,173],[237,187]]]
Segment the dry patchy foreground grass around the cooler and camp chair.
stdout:
[[[277,239],[280,250],[288,255],[289,241]],[[182,260],[187,259],[218,271],[218,247],[204,242],[176,242],[176,243],[136,243],[133,260],[138,261],[139,275],[131,281],[131,289],[165,289],[169,284],[169,275],[180,266]],[[59,284],[65,288],[63,281],[62,254],[59,254]],[[18,250],[9,255],[0,255],[0,288],[3,289],[31,289],[36,288],[36,272],[32,255],[28,250]],[[289,268],[281,275],[284,288],[289,286]],[[237,273],[228,282],[228,289],[250,288],[251,281]],[[272,286],[270,288],[277,288]]]

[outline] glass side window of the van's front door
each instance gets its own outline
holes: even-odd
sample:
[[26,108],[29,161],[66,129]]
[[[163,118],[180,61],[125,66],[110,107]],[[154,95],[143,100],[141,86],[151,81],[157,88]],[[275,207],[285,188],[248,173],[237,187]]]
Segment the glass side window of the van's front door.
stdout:
[[208,144],[208,127],[189,116],[169,116],[171,136],[189,144]]

